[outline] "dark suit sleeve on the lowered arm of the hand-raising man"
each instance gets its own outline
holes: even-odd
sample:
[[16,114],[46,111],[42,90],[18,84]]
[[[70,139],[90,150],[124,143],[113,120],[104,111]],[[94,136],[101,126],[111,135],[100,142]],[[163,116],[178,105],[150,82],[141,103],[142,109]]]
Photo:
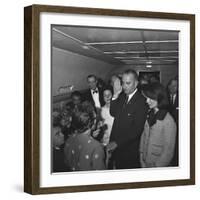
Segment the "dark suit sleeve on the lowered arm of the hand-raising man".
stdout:
[[129,130],[126,130],[129,132],[129,134],[127,134],[126,137],[120,138],[120,140],[116,141],[118,146],[124,146],[130,141],[140,139],[141,137],[147,116],[147,106],[145,104],[145,100],[138,99],[136,107],[137,108],[134,113],[132,125],[131,127],[128,127]]

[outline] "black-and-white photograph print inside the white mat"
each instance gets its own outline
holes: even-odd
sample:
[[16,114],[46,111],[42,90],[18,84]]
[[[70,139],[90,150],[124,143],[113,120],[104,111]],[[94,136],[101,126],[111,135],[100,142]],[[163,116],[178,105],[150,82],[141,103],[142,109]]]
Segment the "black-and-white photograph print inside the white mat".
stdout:
[[52,173],[179,167],[179,31],[150,27],[51,25]]

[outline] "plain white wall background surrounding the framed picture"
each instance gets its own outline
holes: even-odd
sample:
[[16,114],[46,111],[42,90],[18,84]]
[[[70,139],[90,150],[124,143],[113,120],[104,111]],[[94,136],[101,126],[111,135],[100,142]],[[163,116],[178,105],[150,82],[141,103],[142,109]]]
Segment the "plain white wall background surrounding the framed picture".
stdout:
[[[200,55],[200,6],[197,0],[7,0],[1,2],[1,199],[199,199],[200,196],[200,104],[196,105],[196,183],[151,189],[30,196],[23,193],[23,7],[55,4],[196,14],[196,55]],[[196,57],[196,102],[200,102],[200,57]],[[67,181],[67,180],[66,180]]]

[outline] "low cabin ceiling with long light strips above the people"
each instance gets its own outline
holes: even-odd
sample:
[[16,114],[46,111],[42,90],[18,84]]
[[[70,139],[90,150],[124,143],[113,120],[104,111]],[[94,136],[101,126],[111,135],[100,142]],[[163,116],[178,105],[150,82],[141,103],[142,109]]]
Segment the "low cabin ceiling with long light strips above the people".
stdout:
[[52,26],[54,47],[116,65],[178,63],[178,32]]

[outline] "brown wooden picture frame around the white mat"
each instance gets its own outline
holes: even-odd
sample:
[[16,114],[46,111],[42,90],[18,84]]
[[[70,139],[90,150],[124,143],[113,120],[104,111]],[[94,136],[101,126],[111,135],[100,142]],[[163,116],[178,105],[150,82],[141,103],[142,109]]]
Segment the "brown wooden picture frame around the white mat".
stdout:
[[[126,18],[144,18],[153,20],[179,20],[188,22],[189,52],[190,52],[190,149],[189,177],[173,180],[119,182],[89,185],[67,185],[41,187],[40,178],[40,83],[41,83],[41,54],[40,28],[41,13],[78,14],[81,16],[112,16]],[[184,70],[184,69],[183,69]],[[44,76],[44,74],[42,74]],[[50,5],[32,5],[24,9],[24,191],[30,194],[47,194],[62,192],[83,192],[113,189],[147,188],[195,184],[195,16],[192,14],[161,13],[147,11],[111,10],[97,8],[63,7]]]

